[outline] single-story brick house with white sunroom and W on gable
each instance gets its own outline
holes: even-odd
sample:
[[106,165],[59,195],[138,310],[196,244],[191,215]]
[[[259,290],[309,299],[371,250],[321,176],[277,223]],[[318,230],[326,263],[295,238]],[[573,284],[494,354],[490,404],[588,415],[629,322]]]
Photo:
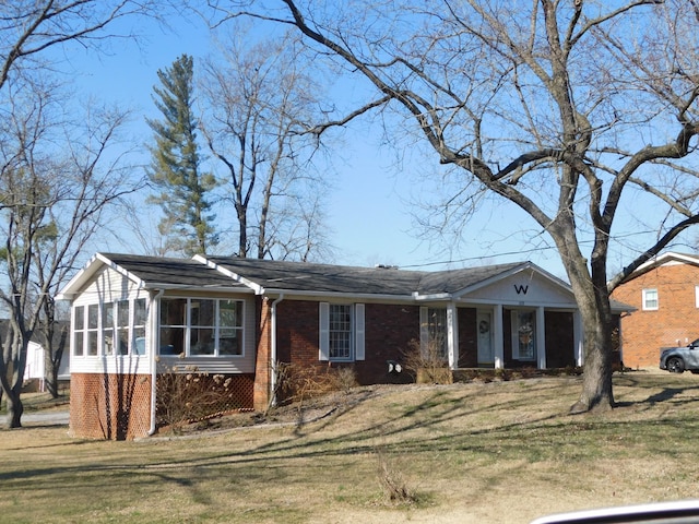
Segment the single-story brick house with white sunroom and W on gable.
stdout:
[[156,382],[196,368],[263,409],[280,362],[405,382],[404,352],[439,341],[452,370],[581,366],[568,284],[530,262],[423,272],[232,257],[97,253],[71,302],[71,433],[156,430]]

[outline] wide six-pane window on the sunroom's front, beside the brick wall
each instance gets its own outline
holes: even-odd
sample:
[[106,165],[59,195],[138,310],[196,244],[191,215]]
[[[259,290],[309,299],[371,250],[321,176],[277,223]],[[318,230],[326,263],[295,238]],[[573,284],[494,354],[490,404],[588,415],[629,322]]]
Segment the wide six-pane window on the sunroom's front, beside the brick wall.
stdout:
[[242,355],[242,300],[161,299],[161,355]]

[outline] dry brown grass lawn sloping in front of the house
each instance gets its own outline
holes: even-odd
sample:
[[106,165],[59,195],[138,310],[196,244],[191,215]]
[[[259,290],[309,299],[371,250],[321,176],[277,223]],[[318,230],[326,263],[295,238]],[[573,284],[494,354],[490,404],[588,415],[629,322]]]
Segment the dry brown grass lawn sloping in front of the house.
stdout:
[[[8,522],[526,523],[694,498],[699,377],[615,377],[619,407],[569,416],[579,378],[355,389],[248,428],[137,442],[0,430]],[[269,424],[269,422],[274,424]],[[230,428],[230,429],[226,429]],[[381,461],[411,500],[390,500]],[[24,521],[23,521],[24,519]]]

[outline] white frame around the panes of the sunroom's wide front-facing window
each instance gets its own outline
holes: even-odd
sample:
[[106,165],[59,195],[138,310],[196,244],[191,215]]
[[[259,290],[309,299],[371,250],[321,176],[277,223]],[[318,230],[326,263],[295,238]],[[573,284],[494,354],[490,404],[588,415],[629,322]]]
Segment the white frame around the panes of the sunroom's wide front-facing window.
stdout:
[[[166,324],[163,323],[162,314],[158,314],[158,326],[157,326],[157,336],[158,336],[158,354],[161,354],[161,335],[163,329],[173,329],[173,330],[181,330],[182,331],[182,349],[185,353],[185,357],[191,358],[242,358],[245,357],[245,314],[246,314],[246,303],[245,300],[235,299],[235,298],[212,298],[212,297],[162,297],[161,299],[161,312],[163,311],[162,305],[164,301],[168,300],[183,300],[185,302],[185,318],[182,319],[182,324]],[[213,302],[214,312],[213,312],[213,322],[212,324],[202,324],[201,322],[197,325],[192,324],[192,310],[196,309],[196,306],[200,305],[201,301],[208,300]],[[237,305],[237,320],[238,325],[222,325],[221,318],[221,302],[235,302]],[[213,352],[211,353],[198,353],[192,354],[191,341],[193,330],[212,330],[213,333]],[[221,353],[221,341],[223,333],[230,334],[236,333],[238,336],[238,353],[237,354],[222,354]],[[163,355],[176,357],[178,355]]]

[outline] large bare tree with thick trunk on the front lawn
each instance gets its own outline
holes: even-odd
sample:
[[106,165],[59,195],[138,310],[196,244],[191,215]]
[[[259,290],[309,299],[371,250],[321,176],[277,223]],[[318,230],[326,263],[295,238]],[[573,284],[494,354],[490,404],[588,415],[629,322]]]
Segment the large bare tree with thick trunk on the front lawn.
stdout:
[[[699,222],[696,1],[209,3],[220,24],[245,14],[296,27],[375,87],[356,112],[387,100],[465,188],[528,213],[553,239],[582,318],[571,412],[614,405],[609,295]],[[627,207],[656,218],[656,237],[611,274]]]

